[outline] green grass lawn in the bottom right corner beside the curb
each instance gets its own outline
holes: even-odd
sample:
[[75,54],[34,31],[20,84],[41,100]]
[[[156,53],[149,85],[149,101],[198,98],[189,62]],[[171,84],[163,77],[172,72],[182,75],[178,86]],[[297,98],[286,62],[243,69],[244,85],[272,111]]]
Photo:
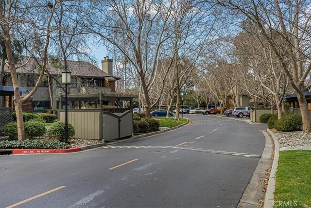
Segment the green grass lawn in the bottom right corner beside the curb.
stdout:
[[311,207],[311,150],[279,153],[275,201],[292,201],[292,205],[296,201],[297,208]]

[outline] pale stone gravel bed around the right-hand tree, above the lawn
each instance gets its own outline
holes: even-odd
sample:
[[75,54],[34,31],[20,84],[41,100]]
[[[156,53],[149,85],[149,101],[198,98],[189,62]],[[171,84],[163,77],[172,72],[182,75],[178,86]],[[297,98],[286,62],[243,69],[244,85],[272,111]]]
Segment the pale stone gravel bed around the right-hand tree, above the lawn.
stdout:
[[311,134],[302,132],[276,134],[280,147],[310,146]]

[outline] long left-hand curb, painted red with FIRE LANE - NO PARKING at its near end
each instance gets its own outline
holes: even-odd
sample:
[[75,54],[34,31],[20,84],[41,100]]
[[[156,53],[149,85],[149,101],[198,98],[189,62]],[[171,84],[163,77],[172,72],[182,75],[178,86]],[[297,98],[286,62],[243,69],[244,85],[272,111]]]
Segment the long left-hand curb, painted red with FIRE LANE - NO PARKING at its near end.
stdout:
[[168,131],[172,131],[175,130],[177,128],[180,128],[186,124],[189,123],[189,119],[187,119],[187,121],[185,123],[182,123],[178,126],[175,126],[173,128],[168,128],[162,131],[157,131],[157,132],[151,132],[148,134],[142,134],[142,135],[138,135],[135,137],[131,137],[129,139],[122,139],[121,141],[116,141],[116,142],[111,142],[111,143],[99,143],[99,144],[92,144],[92,145],[88,145],[88,146],[84,146],[84,147],[75,147],[75,148],[71,148],[71,149],[66,149],[66,150],[53,150],[53,149],[10,149],[10,150],[5,150],[5,152],[12,152],[12,155],[21,155],[21,154],[55,154],[55,153],[74,153],[74,152],[80,152],[83,150],[89,150],[89,149],[93,149],[93,148],[98,148],[98,147],[102,147],[102,146],[106,146],[106,145],[114,145],[117,143],[122,143],[122,142],[126,142],[126,141],[130,141],[130,140],[134,140],[134,139],[141,139],[144,137],[150,137],[153,135],[157,135],[157,134],[161,134],[164,132],[168,132]]

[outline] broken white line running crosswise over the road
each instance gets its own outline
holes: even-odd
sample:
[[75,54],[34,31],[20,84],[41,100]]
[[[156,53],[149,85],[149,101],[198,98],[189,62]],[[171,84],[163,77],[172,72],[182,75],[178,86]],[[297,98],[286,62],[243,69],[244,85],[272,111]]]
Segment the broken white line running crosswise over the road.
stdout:
[[181,149],[181,150],[190,150],[190,151],[195,151],[195,152],[205,152],[205,153],[221,154],[221,155],[229,155],[229,156],[244,156],[244,157],[256,157],[256,158],[261,157],[260,155],[249,154],[249,153],[237,153],[237,152],[228,152],[224,150],[212,150],[212,149],[183,147],[183,146],[178,146],[178,147],[173,147],[173,146],[107,146],[107,147],[103,147],[103,149],[123,149],[123,148]]

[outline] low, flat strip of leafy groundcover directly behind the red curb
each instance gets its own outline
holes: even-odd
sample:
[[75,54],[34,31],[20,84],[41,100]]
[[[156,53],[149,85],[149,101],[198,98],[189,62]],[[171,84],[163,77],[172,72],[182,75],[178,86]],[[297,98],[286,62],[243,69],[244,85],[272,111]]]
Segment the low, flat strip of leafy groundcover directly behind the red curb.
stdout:
[[22,140],[22,141],[0,141],[0,149],[67,149],[69,146],[64,142],[57,141],[41,141],[35,140]]

